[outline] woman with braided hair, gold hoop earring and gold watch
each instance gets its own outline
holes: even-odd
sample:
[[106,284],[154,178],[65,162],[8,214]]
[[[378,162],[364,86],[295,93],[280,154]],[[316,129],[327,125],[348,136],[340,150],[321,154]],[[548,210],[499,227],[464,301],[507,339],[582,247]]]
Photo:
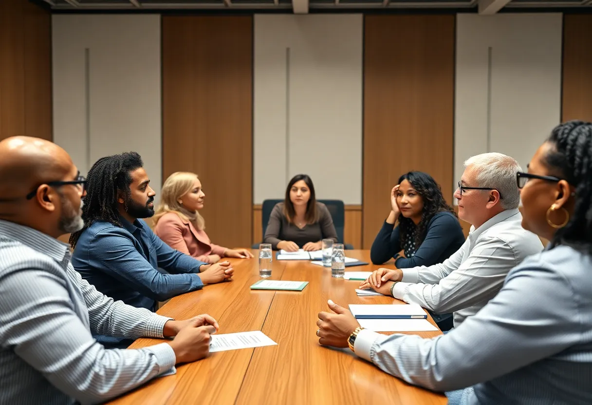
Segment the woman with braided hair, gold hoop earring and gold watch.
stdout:
[[408,383],[456,390],[449,404],[591,404],[592,123],[555,127],[516,182],[523,227],[551,243],[511,269],[477,314],[432,339],[386,336],[329,301],[319,343],[349,345]]

